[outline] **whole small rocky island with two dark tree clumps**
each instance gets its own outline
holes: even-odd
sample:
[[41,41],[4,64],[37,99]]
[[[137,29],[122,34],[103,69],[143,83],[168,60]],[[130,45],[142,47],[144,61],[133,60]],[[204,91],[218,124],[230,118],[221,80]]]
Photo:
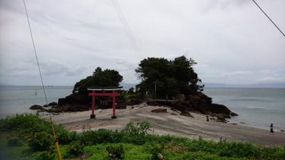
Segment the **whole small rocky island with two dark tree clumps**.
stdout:
[[[151,105],[170,107],[181,112],[181,115],[191,116],[190,112],[198,112],[217,117],[220,121],[237,116],[224,105],[212,103],[212,98],[204,95],[204,85],[192,68],[195,60],[185,56],[174,60],[165,58],[146,58],[140,61],[135,70],[141,82],[130,90],[121,90],[117,109],[125,109],[130,105]],[[46,112],[81,112],[90,110],[91,99],[87,87],[118,87],[123,76],[116,70],[96,68],[93,75],[76,82],[73,93],[58,99],[43,107],[33,105],[31,110]],[[100,97],[96,100],[96,109],[112,107],[110,97]],[[48,108],[44,108],[48,107]]]

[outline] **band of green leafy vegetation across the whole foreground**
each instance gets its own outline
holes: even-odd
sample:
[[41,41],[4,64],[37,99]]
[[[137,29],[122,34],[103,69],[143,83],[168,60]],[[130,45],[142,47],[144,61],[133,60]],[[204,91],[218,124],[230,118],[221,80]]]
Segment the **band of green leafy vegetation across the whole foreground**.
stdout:
[[[70,132],[56,125],[64,159],[284,159],[285,146],[147,134],[150,124],[130,122],[123,131]],[[0,120],[0,159],[56,159],[46,119],[21,114]]]

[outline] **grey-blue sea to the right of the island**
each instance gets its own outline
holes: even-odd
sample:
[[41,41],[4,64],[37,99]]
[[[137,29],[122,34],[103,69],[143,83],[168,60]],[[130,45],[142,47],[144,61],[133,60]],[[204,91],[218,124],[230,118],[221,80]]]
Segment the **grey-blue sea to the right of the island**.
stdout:
[[204,88],[214,103],[229,107],[239,114],[230,122],[274,130],[285,129],[285,88]]

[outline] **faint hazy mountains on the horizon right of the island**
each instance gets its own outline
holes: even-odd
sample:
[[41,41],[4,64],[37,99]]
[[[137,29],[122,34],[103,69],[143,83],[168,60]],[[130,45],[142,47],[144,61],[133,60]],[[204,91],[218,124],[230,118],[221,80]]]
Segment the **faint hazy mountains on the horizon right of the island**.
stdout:
[[274,83],[254,83],[249,85],[236,85],[236,84],[224,84],[214,82],[204,82],[205,87],[266,87],[266,88],[285,88],[285,82]]

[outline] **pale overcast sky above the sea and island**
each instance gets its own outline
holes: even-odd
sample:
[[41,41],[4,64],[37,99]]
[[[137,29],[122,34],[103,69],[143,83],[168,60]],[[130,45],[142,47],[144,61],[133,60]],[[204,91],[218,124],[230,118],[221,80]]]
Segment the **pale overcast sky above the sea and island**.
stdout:
[[[22,0],[0,0],[0,84],[40,85]],[[143,58],[186,55],[202,82],[285,82],[285,37],[252,0],[26,0],[46,85],[73,85],[101,68],[138,82]],[[257,0],[285,31],[285,1]]]

